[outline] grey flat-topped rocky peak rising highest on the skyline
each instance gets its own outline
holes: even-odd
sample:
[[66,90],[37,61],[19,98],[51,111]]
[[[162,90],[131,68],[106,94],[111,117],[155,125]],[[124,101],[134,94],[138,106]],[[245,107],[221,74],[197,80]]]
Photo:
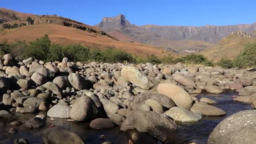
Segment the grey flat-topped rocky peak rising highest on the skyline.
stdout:
[[101,29],[115,29],[117,27],[132,27],[131,23],[125,19],[123,14],[115,17],[104,17],[99,24],[95,25]]

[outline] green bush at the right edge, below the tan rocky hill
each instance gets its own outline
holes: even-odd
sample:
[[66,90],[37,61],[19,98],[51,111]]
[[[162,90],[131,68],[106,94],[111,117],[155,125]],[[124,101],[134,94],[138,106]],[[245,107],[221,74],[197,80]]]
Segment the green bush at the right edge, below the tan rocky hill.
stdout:
[[255,67],[256,66],[256,42],[248,43],[245,49],[236,57],[235,67]]

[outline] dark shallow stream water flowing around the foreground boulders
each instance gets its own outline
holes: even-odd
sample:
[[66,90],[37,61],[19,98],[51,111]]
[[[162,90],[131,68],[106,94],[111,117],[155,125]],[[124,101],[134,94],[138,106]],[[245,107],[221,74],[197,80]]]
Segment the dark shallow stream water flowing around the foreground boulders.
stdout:
[[[207,97],[217,102],[215,107],[223,109],[227,115],[223,117],[203,117],[197,123],[178,123],[179,130],[177,131],[177,143],[186,144],[195,141],[197,144],[206,144],[207,139],[213,128],[224,118],[232,115],[236,112],[240,112],[246,109],[252,109],[249,104],[233,101],[232,96],[237,95],[234,92],[228,92],[221,95],[213,94],[200,94],[197,96],[198,99],[201,97]],[[48,126],[42,129],[30,130],[21,126],[10,125],[11,122],[19,120],[26,122],[31,117],[39,114],[46,114],[40,112],[37,114],[10,114],[0,117],[0,144],[13,144],[14,139],[27,138],[30,144],[42,144],[41,133],[43,130],[48,128],[51,124],[68,129],[79,134],[87,144],[101,144],[104,141],[112,141],[114,144],[128,144],[129,134],[119,131],[119,127],[95,130],[89,127],[89,123],[85,122],[67,122],[66,119],[55,119],[56,121],[50,121],[47,119]],[[9,135],[7,132],[10,128],[17,128],[18,133]],[[106,135],[107,140],[101,139],[101,135]]]

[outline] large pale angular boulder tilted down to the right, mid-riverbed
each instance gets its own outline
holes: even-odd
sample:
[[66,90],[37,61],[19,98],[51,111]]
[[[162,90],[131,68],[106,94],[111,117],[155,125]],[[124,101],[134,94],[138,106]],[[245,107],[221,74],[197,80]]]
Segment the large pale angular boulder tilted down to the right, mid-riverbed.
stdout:
[[142,89],[149,90],[154,86],[152,81],[136,67],[124,67],[121,71],[121,75],[125,80],[130,81]]

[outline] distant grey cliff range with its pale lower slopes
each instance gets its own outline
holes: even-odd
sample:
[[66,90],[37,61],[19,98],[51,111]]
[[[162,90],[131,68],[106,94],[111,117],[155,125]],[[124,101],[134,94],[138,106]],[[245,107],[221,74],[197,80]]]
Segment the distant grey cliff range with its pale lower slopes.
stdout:
[[[103,18],[102,21],[96,25],[104,31],[111,32],[117,31],[124,35],[132,37],[132,39],[154,46],[171,48],[178,51],[177,48],[182,48],[182,51],[197,51],[208,48],[206,43],[217,43],[226,37],[231,32],[242,30],[248,34],[252,34],[256,30],[256,23],[253,24],[237,24],[228,26],[214,26],[206,25],[203,27],[195,26],[159,26],[159,25],[143,25],[136,26],[130,24],[125,16],[119,15],[116,17]],[[114,35],[118,38],[118,36]],[[184,47],[184,45],[174,46],[175,41],[191,40],[202,41],[199,45],[193,45],[195,48]],[[197,42],[198,43],[198,42]],[[180,51],[180,50],[179,50]]]

